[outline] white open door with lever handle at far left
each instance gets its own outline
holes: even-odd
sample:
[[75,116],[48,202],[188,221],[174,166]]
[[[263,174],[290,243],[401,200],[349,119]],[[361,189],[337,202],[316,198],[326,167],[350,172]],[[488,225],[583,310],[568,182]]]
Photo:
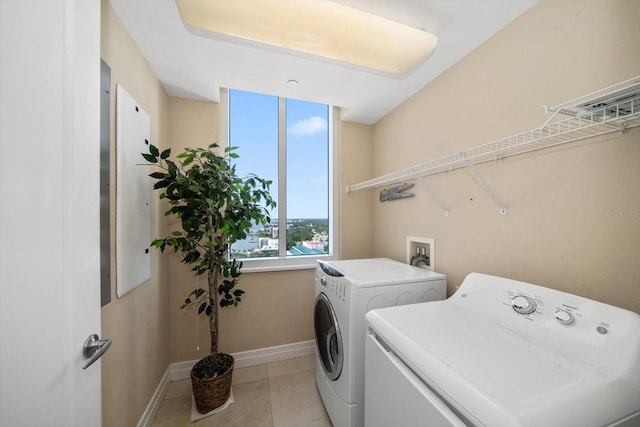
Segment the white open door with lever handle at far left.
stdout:
[[0,426],[99,426],[98,0],[0,0]]

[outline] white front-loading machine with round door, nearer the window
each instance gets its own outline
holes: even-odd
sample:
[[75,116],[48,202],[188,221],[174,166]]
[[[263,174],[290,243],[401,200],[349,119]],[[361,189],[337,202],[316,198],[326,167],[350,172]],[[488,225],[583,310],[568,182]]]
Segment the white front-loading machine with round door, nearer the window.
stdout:
[[387,258],[319,262],[316,382],[335,427],[364,426],[365,314],[446,298],[446,276]]

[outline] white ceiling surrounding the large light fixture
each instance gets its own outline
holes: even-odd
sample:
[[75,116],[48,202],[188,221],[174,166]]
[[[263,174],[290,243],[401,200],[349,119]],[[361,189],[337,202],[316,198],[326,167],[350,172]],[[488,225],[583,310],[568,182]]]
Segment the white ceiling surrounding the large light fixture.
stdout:
[[[109,3],[171,96],[218,101],[219,89],[228,87],[337,105],[343,107],[343,120],[373,124],[538,0],[338,1],[434,33],[438,47],[410,73],[389,75],[194,34],[182,23],[174,0]],[[291,79],[299,85],[287,85]]]

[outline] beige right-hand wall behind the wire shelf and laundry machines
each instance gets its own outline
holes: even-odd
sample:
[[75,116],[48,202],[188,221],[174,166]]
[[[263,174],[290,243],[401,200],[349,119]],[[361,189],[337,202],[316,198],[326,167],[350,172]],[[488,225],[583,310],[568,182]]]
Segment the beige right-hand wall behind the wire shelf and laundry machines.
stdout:
[[[640,74],[638,16],[638,1],[541,1],[374,126],[374,176],[541,126],[541,105]],[[449,216],[417,185],[376,202],[375,255],[403,260],[406,236],[432,237],[450,292],[479,271],[640,312],[639,160],[633,129],[481,166],[506,216],[468,169],[429,177]]]

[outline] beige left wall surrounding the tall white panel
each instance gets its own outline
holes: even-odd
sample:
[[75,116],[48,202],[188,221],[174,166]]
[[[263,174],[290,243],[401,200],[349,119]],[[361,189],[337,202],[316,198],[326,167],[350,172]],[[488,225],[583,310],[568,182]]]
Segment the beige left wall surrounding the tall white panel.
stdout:
[[[151,118],[151,142],[165,146],[169,98],[106,1],[102,2],[102,57],[111,67],[111,241],[115,243],[115,85],[122,84]],[[161,212],[152,200],[152,235]],[[112,248],[115,245],[112,244]],[[116,297],[115,252],[111,260],[111,302],[102,309],[102,336],[113,345],[102,360],[103,422],[136,425],[169,365],[168,291],[160,280],[159,255],[151,254],[152,278]]]

